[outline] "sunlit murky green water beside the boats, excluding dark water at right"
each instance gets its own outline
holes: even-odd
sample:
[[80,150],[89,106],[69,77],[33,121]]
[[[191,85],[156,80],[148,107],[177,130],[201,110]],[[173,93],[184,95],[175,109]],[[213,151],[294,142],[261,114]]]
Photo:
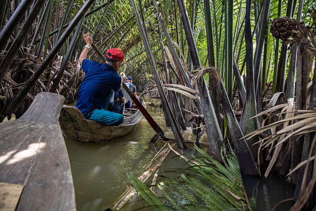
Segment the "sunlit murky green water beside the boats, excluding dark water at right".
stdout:
[[[166,128],[162,111],[157,107],[147,107],[155,121],[165,131],[167,137],[173,137],[170,128]],[[191,131],[183,131],[186,139],[194,139]],[[157,153],[150,144],[155,134],[149,123],[143,118],[137,128],[128,136],[100,144],[83,144],[66,141],[71,171],[76,192],[78,211],[105,210],[131,184],[126,170],[135,176],[145,171],[143,166]],[[202,137],[200,141],[203,141]],[[157,145],[157,150],[163,146]],[[181,153],[181,150],[179,151]],[[185,152],[184,152],[185,153]],[[173,157],[175,154],[170,154]],[[166,159],[166,165],[178,166],[179,159]],[[138,199],[135,194],[135,199]],[[134,207],[134,206],[133,206]],[[121,210],[129,210],[125,206]],[[148,210],[148,209],[147,209]]]

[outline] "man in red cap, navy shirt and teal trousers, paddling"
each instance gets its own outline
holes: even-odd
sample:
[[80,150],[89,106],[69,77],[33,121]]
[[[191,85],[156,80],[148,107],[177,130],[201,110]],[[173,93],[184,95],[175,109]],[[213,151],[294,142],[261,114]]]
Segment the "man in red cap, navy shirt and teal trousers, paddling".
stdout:
[[122,124],[124,116],[107,110],[112,93],[122,88],[122,78],[117,73],[124,60],[124,53],[117,48],[106,52],[106,63],[87,59],[89,48],[93,43],[89,34],[83,35],[86,46],[79,56],[82,70],[86,73],[81,82],[76,107],[88,120],[105,125]]

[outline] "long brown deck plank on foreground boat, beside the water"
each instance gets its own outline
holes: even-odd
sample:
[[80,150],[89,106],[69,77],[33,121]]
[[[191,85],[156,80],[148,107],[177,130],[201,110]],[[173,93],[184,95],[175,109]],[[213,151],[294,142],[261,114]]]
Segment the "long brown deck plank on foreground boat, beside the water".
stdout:
[[60,127],[47,125],[40,145],[43,148],[35,156],[17,210],[75,210],[70,163]]

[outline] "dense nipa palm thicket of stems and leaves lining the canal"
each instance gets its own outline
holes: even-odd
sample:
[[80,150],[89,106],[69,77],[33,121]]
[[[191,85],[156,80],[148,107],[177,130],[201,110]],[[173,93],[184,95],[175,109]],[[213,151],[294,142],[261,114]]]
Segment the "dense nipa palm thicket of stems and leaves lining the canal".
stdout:
[[[191,127],[197,146],[206,132],[212,159],[227,167],[222,147],[231,149],[241,172],[289,178],[292,210],[312,209],[315,9],[314,0],[1,1],[1,120],[20,117],[40,92],[74,103],[90,33],[103,54],[123,50],[120,71],[139,96],[161,99],[178,147],[187,147],[180,130]],[[88,59],[102,62],[93,49]]]

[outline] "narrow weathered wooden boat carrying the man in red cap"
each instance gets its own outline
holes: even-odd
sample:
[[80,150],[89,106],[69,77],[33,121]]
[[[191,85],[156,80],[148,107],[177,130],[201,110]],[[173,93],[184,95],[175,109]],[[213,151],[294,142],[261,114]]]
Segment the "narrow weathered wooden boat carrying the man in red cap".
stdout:
[[[146,107],[146,104],[143,103]],[[64,136],[72,141],[83,143],[99,143],[119,138],[131,133],[143,118],[140,110],[134,114],[123,114],[124,121],[119,126],[108,126],[97,121],[87,120],[79,109],[74,106],[63,106],[60,113],[60,126]]]

